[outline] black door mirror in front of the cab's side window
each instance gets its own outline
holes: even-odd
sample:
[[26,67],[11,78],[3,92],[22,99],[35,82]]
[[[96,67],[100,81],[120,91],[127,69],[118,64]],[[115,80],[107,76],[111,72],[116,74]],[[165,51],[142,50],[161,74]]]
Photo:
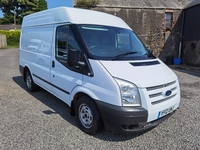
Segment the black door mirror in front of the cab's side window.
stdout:
[[[80,51],[76,49],[69,49],[67,54],[67,63],[69,67],[85,66],[84,62],[79,61]],[[78,68],[78,67],[77,67]]]

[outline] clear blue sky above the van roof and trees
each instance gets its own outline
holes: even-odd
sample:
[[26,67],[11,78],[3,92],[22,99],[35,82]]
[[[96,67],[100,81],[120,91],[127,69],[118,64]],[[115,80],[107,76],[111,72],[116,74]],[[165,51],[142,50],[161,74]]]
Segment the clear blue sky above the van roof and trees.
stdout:
[[[48,9],[55,8],[59,6],[73,6],[73,0],[46,0]],[[0,11],[0,18],[2,18],[2,12]]]

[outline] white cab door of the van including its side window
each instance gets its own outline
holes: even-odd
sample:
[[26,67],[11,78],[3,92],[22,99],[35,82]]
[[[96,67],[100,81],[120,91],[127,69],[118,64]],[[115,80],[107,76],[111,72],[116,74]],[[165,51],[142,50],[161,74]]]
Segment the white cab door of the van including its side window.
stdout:
[[69,25],[57,26],[55,34],[55,55],[52,60],[51,83],[53,93],[70,105],[70,93],[82,85],[82,74],[70,70],[67,65],[68,49],[80,50]]

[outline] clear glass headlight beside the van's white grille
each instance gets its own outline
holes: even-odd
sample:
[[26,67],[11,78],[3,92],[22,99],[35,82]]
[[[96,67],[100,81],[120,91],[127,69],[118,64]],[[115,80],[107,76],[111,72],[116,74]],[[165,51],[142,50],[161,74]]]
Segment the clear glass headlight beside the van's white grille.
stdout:
[[133,83],[114,78],[120,88],[123,106],[141,106],[140,95],[137,86]]

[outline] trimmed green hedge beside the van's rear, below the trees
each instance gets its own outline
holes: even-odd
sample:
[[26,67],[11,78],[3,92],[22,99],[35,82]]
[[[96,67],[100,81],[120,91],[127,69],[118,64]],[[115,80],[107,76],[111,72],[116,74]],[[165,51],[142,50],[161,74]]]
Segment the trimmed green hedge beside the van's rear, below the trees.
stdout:
[[19,47],[20,30],[0,30],[0,34],[5,34],[8,47]]

